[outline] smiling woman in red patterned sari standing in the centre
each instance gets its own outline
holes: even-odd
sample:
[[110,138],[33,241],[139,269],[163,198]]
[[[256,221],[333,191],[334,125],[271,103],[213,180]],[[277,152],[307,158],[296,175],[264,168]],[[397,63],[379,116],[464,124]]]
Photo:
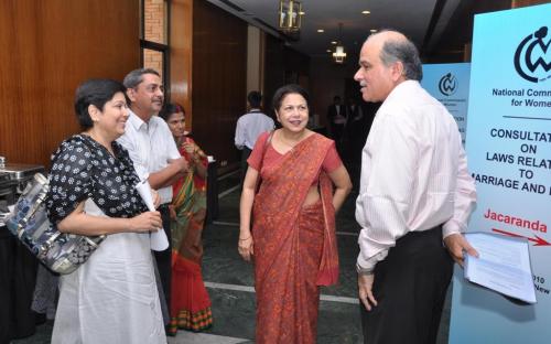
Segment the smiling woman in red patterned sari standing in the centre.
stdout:
[[282,128],[261,135],[248,160],[238,249],[255,262],[256,343],[309,344],[320,286],[338,279],[335,212],[352,184],[334,141],[306,129],[307,93],[287,85],[272,104]]

